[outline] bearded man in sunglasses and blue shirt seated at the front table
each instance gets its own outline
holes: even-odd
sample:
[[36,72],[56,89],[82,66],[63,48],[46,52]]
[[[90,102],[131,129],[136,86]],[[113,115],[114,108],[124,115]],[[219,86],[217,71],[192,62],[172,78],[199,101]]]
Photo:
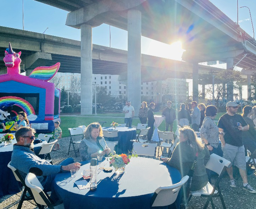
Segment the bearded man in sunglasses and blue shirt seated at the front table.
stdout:
[[30,127],[20,127],[15,138],[17,144],[13,145],[11,165],[15,167],[25,179],[29,169],[36,167],[42,170],[42,176],[37,176],[44,187],[44,190],[51,191],[52,181],[55,175],[60,172],[70,171],[74,168],[80,168],[80,163],[74,163],[72,158],[64,160],[60,165],[52,165],[44,159],[36,156],[34,153],[35,130]]

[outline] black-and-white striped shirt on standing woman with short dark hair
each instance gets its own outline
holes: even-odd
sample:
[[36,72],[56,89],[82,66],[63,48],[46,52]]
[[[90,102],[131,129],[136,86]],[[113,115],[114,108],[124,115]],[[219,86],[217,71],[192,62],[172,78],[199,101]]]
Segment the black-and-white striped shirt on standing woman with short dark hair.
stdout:
[[219,143],[219,129],[214,123],[214,120],[205,117],[200,130],[200,137],[202,139],[207,139],[212,147],[217,148]]

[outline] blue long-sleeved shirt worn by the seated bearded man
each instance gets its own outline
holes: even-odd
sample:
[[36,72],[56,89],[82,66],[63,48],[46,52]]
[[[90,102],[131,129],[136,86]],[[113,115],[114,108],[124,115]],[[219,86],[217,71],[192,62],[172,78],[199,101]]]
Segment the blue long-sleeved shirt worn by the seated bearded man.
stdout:
[[37,176],[37,178],[42,186],[47,183],[49,175],[61,172],[61,166],[51,165],[51,163],[36,156],[35,153],[29,149],[29,147],[24,147],[17,144],[13,145],[11,165],[19,171],[24,179],[29,173],[30,168],[40,168],[43,175]]

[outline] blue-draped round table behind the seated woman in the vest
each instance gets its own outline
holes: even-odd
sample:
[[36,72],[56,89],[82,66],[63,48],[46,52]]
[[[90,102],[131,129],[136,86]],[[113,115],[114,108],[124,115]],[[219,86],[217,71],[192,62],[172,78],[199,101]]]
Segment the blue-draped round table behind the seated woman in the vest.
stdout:
[[[104,130],[112,130],[111,127],[103,127]],[[118,137],[106,138],[108,141],[118,141],[118,154],[128,153],[132,150],[131,139],[136,139],[136,129],[130,127],[116,127]],[[116,150],[117,151],[117,150]]]

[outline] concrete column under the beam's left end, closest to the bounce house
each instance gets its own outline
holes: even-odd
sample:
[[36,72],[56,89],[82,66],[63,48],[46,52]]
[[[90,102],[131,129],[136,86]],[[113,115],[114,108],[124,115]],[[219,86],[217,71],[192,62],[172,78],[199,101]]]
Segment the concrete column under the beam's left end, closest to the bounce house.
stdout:
[[81,25],[81,115],[92,114],[92,26]]

